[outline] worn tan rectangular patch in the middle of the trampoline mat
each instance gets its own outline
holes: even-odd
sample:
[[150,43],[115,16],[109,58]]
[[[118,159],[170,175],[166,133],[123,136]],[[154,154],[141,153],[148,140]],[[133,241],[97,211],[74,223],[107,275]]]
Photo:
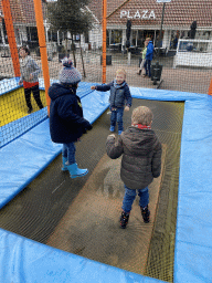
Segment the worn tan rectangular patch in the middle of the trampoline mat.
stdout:
[[[163,146],[162,168],[165,156]],[[102,157],[47,244],[144,274],[162,174],[149,186],[150,222],[144,223],[139,199],[136,198],[127,229],[123,230],[119,227],[119,217],[125,189],[119,177],[120,160],[112,160],[106,154]]]

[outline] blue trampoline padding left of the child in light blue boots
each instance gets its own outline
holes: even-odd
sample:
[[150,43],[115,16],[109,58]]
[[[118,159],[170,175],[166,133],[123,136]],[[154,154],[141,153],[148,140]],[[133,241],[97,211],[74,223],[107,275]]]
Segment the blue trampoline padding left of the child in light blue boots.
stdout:
[[49,119],[0,149],[0,208],[28,186],[60,153],[50,138]]

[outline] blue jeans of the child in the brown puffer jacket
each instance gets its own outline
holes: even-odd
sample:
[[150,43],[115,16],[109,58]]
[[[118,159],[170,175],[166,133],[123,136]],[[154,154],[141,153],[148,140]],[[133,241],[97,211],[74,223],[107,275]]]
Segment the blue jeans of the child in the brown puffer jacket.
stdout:
[[128,188],[126,185],[125,187],[125,197],[123,200],[123,210],[125,212],[130,212],[131,211],[131,206],[134,203],[134,200],[136,198],[137,191],[138,191],[138,196],[140,197],[139,200],[139,206],[145,208],[147,207],[147,205],[149,203],[149,189],[148,187],[146,187],[145,189],[141,190],[132,190],[130,188]]

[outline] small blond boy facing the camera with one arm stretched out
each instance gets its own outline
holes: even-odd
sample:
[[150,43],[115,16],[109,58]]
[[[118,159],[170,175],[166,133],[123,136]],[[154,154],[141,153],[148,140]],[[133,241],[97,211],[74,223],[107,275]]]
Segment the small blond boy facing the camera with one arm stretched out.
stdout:
[[116,78],[105,85],[91,86],[92,90],[107,92],[110,91],[109,96],[109,108],[112,112],[110,116],[110,132],[115,132],[116,122],[118,124],[118,135],[123,133],[123,114],[124,109],[129,111],[131,106],[131,94],[129,91],[129,86],[126,83],[126,72],[120,69],[116,71]]

